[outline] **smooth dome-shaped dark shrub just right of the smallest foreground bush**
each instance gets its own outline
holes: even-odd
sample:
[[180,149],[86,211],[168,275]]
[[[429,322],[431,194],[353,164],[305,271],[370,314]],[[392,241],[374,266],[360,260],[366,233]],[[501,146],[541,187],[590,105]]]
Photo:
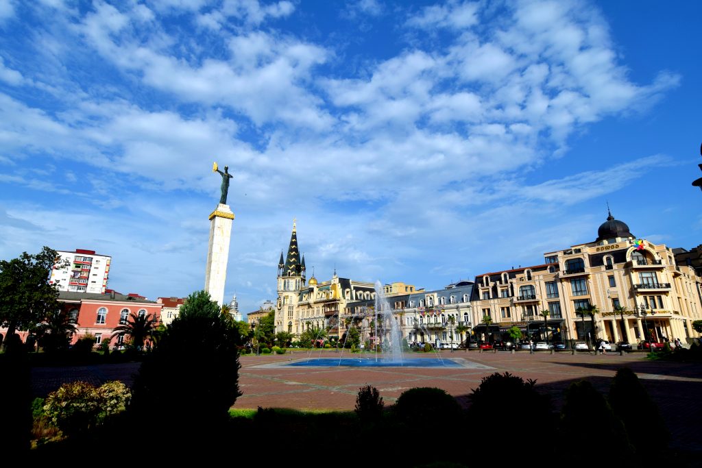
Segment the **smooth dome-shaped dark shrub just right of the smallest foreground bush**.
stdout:
[[405,390],[393,407],[399,422],[414,427],[429,427],[441,417],[446,425],[461,417],[461,406],[445,390],[435,387],[416,387]]

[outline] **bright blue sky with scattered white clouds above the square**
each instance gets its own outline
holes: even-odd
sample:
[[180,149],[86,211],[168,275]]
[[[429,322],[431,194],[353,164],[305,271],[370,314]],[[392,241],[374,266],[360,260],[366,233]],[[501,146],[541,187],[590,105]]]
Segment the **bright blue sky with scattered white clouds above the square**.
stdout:
[[633,234],[702,243],[693,1],[0,0],[0,258],[112,256],[109,288],[439,289]]

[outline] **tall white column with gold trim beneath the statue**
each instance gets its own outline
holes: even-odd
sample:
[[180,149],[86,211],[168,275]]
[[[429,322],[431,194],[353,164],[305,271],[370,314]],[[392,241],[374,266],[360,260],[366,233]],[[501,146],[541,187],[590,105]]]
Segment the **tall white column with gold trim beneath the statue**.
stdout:
[[227,279],[229,243],[232,236],[232,208],[219,203],[210,216],[210,242],[207,251],[205,290],[212,300],[221,306],[224,302],[224,286]]

